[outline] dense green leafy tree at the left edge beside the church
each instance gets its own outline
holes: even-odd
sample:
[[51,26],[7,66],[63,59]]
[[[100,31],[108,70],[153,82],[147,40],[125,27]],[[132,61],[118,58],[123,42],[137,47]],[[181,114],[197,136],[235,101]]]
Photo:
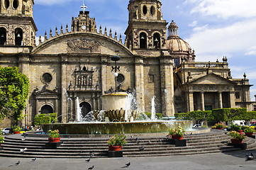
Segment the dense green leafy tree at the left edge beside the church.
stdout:
[[18,67],[0,67],[0,120],[23,118],[28,88],[28,77],[19,73]]

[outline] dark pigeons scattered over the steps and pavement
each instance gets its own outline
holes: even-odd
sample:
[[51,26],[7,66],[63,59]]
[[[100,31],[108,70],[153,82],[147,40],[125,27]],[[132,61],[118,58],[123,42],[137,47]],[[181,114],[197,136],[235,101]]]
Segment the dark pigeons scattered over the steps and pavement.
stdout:
[[[131,138],[131,139],[134,139],[133,136],[130,136],[130,138]],[[140,144],[140,140],[138,140],[138,137],[135,138],[135,142],[136,142],[137,144]],[[162,141],[161,141],[161,140],[158,140],[157,142],[162,142]],[[147,145],[150,145],[150,143],[151,143],[151,142],[148,141]],[[142,145],[142,146],[140,146],[140,147],[138,148],[138,151],[140,152],[140,151],[143,151],[144,149],[145,149],[145,145]],[[26,152],[27,148],[20,149],[20,150],[21,150],[21,153],[24,153],[24,152]],[[94,151],[90,151],[89,154],[90,154],[90,157],[89,157],[89,159],[85,160],[85,162],[90,162],[90,161],[91,161],[91,158],[94,157],[94,155],[95,155],[95,154],[94,154]],[[37,158],[34,157],[33,159],[31,159],[31,162],[35,162],[36,159],[37,159]],[[245,160],[246,162],[247,162],[247,161],[252,161],[252,160],[254,160],[254,159],[255,159],[255,156],[254,156],[252,153],[246,154],[246,160]],[[21,164],[20,161],[16,162],[16,164],[11,164],[11,165],[9,165],[9,166],[18,166],[19,164]],[[128,168],[129,166],[130,166],[130,162],[129,162],[128,164],[126,164],[126,166],[123,166],[123,168]],[[88,170],[91,170],[91,169],[94,169],[94,166],[89,167]]]

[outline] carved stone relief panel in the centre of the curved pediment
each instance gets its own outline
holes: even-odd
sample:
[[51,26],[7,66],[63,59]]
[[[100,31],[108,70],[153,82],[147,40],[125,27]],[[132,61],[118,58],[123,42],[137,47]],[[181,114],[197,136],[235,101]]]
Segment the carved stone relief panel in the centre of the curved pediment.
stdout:
[[68,52],[100,52],[101,43],[96,40],[69,40],[67,42]]

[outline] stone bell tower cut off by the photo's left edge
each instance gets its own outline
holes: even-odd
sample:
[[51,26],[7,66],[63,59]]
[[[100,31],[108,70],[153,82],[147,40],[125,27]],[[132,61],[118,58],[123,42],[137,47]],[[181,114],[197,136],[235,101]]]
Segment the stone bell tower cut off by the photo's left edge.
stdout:
[[35,46],[33,5],[34,0],[1,0],[0,47]]

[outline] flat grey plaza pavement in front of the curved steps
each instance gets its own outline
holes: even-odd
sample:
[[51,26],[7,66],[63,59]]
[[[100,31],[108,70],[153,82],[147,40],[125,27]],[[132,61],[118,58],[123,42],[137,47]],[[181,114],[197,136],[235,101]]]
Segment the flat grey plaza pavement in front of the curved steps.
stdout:
[[[65,169],[196,169],[196,170],[236,170],[236,169],[256,169],[256,160],[246,161],[245,154],[253,153],[256,150],[245,150],[238,152],[227,152],[218,154],[198,154],[189,156],[170,157],[122,157],[122,158],[93,158],[90,162],[84,159],[36,159],[35,162],[28,158],[6,158],[0,157],[0,170],[65,170]],[[20,161],[21,164],[15,165]],[[130,162],[130,166],[126,164]]]

